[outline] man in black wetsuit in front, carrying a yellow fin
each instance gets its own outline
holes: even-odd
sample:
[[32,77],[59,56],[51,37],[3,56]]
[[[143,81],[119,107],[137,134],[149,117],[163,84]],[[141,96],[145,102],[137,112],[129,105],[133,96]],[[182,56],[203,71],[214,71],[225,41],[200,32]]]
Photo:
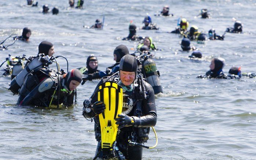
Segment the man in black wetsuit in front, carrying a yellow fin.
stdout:
[[[116,118],[116,124],[119,125],[118,128],[120,129],[116,141],[118,148],[127,160],[141,160],[143,152],[141,146],[129,145],[128,140],[145,143],[149,138],[147,135],[149,127],[155,126],[157,122],[154,90],[149,83],[142,80],[142,75],[137,75],[137,68],[136,58],[132,55],[125,55],[120,61],[119,74],[102,78],[96,86],[97,89],[100,84],[110,78],[108,81],[117,82],[123,89],[123,102],[125,103],[123,106],[128,105],[129,107],[123,107],[122,114]],[[140,90],[143,86],[145,90]],[[91,98],[93,105],[83,108],[83,116],[95,118],[94,131],[98,141],[96,157],[106,158],[100,146],[101,131],[98,116],[106,107],[102,101],[97,101],[97,96],[92,95]],[[133,136],[131,137],[131,135]]]

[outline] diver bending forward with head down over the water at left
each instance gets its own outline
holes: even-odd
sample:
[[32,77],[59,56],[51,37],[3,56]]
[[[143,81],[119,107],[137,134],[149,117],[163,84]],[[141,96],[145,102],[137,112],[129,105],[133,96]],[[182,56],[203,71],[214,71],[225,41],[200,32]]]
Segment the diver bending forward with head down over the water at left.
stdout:
[[66,74],[54,74],[50,68],[30,72],[19,91],[17,104],[51,107],[51,105],[73,104],[75,89],[82,81],[79,70],[72,69]]

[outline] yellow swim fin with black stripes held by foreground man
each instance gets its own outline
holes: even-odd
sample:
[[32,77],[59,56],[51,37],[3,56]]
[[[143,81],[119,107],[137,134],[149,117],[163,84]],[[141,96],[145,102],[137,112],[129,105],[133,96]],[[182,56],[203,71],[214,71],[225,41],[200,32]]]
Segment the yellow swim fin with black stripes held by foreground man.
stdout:
[[116,118],[122,112],[122,88],[116,82],[107,81],[99,86],[98,101],[106,105],[104,112],[99,114],[101,130],[101,148],[112,150],[116,141],[118,125]]

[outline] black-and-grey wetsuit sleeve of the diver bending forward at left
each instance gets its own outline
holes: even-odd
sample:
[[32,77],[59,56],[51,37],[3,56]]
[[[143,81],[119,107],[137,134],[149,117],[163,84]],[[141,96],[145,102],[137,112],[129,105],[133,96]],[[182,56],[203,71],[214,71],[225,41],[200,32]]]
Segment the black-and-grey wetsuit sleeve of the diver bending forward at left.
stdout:
[[20,105],[29,105],[33,99],[42,98],[44,93],[50,90],[54,83],[55,82],[51,78],[44,79],[21,101]]

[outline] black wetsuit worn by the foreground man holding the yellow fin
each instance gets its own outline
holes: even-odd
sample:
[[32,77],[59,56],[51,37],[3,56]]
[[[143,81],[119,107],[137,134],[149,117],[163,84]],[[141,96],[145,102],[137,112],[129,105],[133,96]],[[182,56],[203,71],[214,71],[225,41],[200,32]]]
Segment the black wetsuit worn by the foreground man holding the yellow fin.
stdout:
[[[110,78],[110,81],[116,81],[118,76],[113,76]],[[104,79],[107,79],[108,77],[104,77],[101,79],[101,81],[98,83],[96,89],[98,86],[103,83]],[[114,80],[115,79],[115,80]],[[142,151],[143,148],[141,146],[129,146],[128,145],[128,138],[131,137],[132,134],[136,133],[137,135],[134,141],[138,143],[144,143],[147,141],[148,138],[147,135],[141,134],[143,131],[149,133],[149,128],[151,126],[156,125],[157,121],[157,113],[156,113],[156,103],[155,103],[155,97],[154,97],[154,90],[152,86],[147,83],[146,81],[143,81],[146,93],[148,95],[147,99],[139,100],[138,99],[138,87],[134,87],[134,90],[131,92],[123,92],[123,112],[124,114],[128,116],[134,117],[134,126],[132,127],[123,127],[120,129],[120,133],[117,135],[117,146],[119,147],[120,151],[125,155],[125,159],[127,160],[141,160],[142,159]],[[95,90],[96,90],[95,89]],[[97,96],[91,97],[93,104],[95,101],[97,101]],[[126,102],[124,104],[124,102]],[[128,106],[127,106],[128,105]],[[126,110],[125,110],[126,109]],[[87,118],[93,118],[95,115],[91,111],[89,113],[83,113],[83,115]],[[143,130],[143,131],[142,131]],[[101,139],[101,132],[100,132],[100,124],[99,124],[99,117],[95,117],[95,138],[98,141],[98,149],[100,149],[100,139]],[[97,150],[98,150],[97,149]],[[97,153],[96,150],[96,153]],[[99,152],[99,157],[103,156],[102,152]]]

